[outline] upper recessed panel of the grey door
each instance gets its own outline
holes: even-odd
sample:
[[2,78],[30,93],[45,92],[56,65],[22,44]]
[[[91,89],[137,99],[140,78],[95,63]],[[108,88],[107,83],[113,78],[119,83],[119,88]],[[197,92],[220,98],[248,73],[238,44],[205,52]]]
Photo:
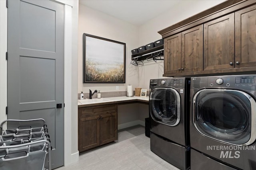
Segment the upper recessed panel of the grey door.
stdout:
[[20,1],[21,48],[55,52],[56,11],[48,8]]

